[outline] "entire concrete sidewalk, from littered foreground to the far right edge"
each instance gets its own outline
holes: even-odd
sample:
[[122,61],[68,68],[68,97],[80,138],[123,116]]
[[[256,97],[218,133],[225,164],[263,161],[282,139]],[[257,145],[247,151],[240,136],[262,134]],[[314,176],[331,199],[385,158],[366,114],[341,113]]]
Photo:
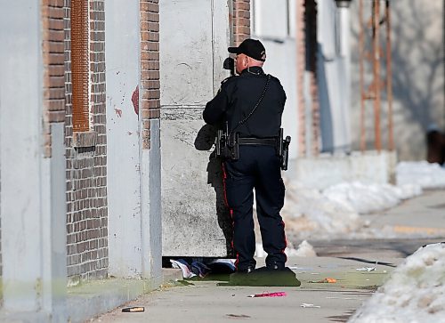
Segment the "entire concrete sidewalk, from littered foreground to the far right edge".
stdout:
[[[384,283],[384,279],[409,254],[425,243],[443,240],[445,191],[425,191],[382,214],[364,215],[371,226],[411,228],[394,230],[391,239],[311,241],[313,258],[287,261],[302,281],[301,287],[228,287],[223,281],[191,281],[190,286],[167,284],[125,306],[143,306],[144,312],[117,308],[90,322],[346,322],[361,303]],[[434,229],[431,231],[430,229]],[[417,234],[413,234],[413,232]],[[316,237],[316,235],[314,235]],[[376,265],[374,271],[357,269]],[[258,266],[263,265],[258,259]],[[336,283],[317,281],[333,278]],[[251,298],[263,292],[286,292],[285,297]],[[302,307],[313,304],[315,307]],[[320,307],[319,307],[320,306]]]

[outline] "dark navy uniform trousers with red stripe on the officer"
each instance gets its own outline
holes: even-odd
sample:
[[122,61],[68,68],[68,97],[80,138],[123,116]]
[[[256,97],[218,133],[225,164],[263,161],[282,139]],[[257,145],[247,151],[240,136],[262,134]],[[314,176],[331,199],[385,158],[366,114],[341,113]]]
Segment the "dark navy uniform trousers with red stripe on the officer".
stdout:
[[275,148],[240,145],[239,160],[225,162],[225,190],[233,220],[233,247],[237,270],[255,268],[254,193],[266,266],[284,268],[287,246],[284,222],[279,211],[284,204],[285,187],[281,179]]

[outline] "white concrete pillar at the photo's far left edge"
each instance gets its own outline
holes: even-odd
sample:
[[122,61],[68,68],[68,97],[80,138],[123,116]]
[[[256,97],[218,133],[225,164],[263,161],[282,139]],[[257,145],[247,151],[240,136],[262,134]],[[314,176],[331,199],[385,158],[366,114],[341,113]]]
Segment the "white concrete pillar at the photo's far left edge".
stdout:
[[4,310],[28,312],[34,321],[63,321],[67,286],[63,125],[52,125],[52,157],[44,157],[40,2],[2,2],[0,36]]

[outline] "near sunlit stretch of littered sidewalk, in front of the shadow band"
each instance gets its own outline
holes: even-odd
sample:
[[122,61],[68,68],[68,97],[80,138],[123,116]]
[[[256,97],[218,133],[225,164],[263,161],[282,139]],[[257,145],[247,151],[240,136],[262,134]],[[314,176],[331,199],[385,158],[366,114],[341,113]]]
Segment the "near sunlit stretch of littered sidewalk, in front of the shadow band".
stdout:
[[[386,260],[387,261],[387,260]],[[142,295],[125,306],[144,306],[142,313],[122,312],[121,308],[92,322],[229,322],[245,319],[255,322],[341,322],[372,295],[376,286],[401,259],[373,267],[360,261],[331,257],[291,258],[301,287],[227,287],[217,281],[192,281],[194,285],[163,287]],[[335,278],[336,283],[317,283]],[[264,292],[286,292],[285,297],[251,298]],[[304,308],[304,303],[317,307]],[[320,306],[320,308],[318,307]]]

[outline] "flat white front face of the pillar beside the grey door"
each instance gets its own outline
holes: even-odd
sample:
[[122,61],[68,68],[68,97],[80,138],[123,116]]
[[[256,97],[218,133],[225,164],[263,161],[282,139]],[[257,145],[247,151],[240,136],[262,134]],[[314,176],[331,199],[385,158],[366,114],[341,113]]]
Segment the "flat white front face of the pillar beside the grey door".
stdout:
[[109,274],[124,278],[142,274],[140,128],[131,100],[140,81],[139,14],[137,1],[105,5]]

